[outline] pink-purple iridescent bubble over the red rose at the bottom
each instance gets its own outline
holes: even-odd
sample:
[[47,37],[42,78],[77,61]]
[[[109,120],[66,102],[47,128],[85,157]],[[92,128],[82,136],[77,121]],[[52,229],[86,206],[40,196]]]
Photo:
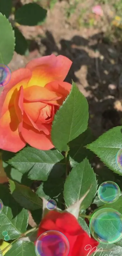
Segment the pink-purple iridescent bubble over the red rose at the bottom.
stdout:
[[37,256],[67,256],[69,253],[68,239],[59,231],[49,230],[38,237],[35,252]]

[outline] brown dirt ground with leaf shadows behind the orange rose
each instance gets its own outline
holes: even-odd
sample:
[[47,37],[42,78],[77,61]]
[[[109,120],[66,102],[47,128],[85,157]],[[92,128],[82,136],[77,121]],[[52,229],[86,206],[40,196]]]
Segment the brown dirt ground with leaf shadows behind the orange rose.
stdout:
[[43,26],[19,26],[24,36],[31,39],[31,52],[29,56],[15,53],[8,66],[13,71],[25,67],[30,59],[51,53],[71,59],[73,64],[66,81],[71,82],[73,79],[87,98],[89,125],[97,137],[121,124],[122,107],[118,85],[122,70],[122,47],[120,41],[106,40],[108,19],[101,22],[97,17],[96,27],[79,25],[84,5],[90,9],[93,3],[92,0],[79,2],[75,12],[67,18],[68,3],[57,2],[53,9],[48,10]]

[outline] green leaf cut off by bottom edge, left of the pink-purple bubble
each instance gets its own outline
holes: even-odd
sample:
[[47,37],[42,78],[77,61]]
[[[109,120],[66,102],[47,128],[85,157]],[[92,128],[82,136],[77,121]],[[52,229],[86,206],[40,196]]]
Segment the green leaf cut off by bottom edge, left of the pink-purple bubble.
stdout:
[[35,245],[28,241],[16,241],[12,244],[11,249],[6,252],[5,256],[36,256]]

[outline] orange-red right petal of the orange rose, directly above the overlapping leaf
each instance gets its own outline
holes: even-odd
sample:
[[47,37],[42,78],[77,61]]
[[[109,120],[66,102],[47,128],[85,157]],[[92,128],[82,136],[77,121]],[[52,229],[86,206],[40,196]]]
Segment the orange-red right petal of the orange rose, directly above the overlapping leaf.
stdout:
[[68,94],[71,91],[71,84],[67,82],[50,82],[47,85],[45,85],[45,88],[47,88],[51,92],[57,92],[61,94],[61,99],[58,99],[57,102],[59,105],[62,105],[63,101],[67,98]]

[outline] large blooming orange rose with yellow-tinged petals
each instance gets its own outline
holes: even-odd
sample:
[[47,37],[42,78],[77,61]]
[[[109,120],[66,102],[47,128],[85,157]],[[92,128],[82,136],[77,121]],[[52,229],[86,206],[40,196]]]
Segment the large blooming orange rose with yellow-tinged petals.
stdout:
[[31,60],[12,72],[0,96],[0,148],[12,152],[26,143],[40,150],[53,148],[51,125],[71,90],[63,82],[71,60],[59,55]]

